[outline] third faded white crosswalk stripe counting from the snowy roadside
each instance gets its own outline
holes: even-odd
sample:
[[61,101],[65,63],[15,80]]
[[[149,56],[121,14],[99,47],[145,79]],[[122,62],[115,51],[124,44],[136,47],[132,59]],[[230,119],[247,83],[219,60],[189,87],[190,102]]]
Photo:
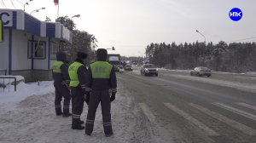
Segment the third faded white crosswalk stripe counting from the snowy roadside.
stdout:
[[247,127],[246,125],[244,125],[242,123],[236,122],[235,120],[232,120],[228,117],[224,117],[223,115],[218,114],[217,112],[212,112],[209,109],[204,108],[202,106],[195,105],[194,103],[189,103],[189,105],[195,107],[196,109],[200,110],[201,112],[204,112],[205,114],[207,114],[210,117],[216,118],[219,121],[230,125],[234,129],[240,130],[244,134],[256,135],[256,130],[255,129]]

